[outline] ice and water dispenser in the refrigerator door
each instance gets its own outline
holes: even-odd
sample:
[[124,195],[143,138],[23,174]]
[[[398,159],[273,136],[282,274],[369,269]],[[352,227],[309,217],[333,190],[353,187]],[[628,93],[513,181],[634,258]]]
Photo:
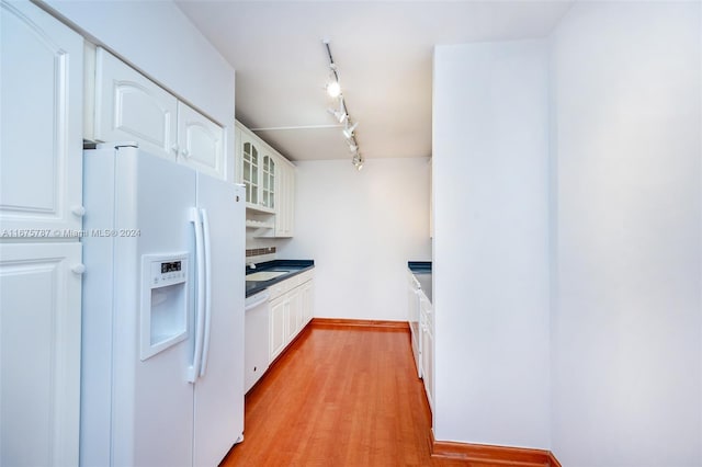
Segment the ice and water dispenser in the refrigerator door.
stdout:
[[188,339],[188,285],[186,252],[141,257],[143,361]]

